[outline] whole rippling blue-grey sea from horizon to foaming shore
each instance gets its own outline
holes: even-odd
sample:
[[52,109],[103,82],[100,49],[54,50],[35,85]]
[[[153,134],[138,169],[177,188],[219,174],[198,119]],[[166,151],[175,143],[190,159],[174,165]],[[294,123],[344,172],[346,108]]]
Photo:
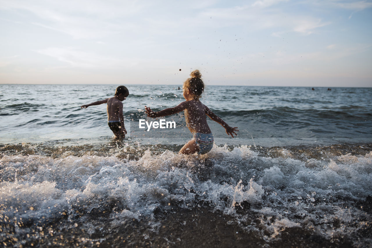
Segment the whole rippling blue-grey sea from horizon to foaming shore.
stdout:
[[[125,85],[123,141],[105,104],[117,85],[0,85],[2,247],[370,247],[372,88],[209,86],[192,138],[140,128],[182,85]],[[148,130],[148,131],[147,131]]]

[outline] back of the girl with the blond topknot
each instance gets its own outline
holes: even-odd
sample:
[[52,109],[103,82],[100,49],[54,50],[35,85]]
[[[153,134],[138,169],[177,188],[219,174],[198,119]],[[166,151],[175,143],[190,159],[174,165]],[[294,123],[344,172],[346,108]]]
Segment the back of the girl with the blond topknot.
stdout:
[[187,128],[192,133],[211,133],[206,119],[208,109],[199,100],[190,100],[185,103],[185,119]]

